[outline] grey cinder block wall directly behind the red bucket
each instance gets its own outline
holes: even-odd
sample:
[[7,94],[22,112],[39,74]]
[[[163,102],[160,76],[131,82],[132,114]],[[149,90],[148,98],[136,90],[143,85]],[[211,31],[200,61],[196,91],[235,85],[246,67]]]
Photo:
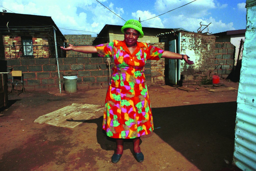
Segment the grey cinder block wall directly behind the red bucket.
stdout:
[[214,55],[214,73],[221,78],[227,78],[234,67],[234,45],[230,42],[216,42]]

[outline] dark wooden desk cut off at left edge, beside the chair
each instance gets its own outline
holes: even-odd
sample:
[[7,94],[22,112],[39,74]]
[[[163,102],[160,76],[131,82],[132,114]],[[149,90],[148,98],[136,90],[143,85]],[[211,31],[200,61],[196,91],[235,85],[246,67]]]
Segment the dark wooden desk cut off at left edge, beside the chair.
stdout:
[[0,72],[0,108],[7,107],[8,103],[7,73]]

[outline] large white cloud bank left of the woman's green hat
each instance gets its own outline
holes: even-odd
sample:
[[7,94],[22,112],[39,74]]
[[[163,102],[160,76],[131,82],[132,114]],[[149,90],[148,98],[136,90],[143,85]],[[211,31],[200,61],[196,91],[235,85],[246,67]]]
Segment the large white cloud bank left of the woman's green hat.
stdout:
[[[50,16],[59,28],[71,30],[84,30],[96,36],[105,24],[122,25],[124,21],[102,6],[97,1],[91,0],[1,0],[2,6],[20,14]],[[116,8],[113,3],[101,0],[101,3],[108,4],[108,8],[117,15],[124,14],[123,8]],[[7,12],[11,12],[8,11]],[[60,29],[62,34],[90,34],[81,31],[69,31]]]

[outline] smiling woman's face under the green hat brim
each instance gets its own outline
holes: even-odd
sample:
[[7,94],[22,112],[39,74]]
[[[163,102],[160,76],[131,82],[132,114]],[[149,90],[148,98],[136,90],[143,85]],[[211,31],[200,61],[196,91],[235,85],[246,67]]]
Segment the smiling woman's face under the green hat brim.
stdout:
[[124,30],[124,42],[127,47],[137,46],[137,40],[140,36],[140,33],[132,28],[127,28]]

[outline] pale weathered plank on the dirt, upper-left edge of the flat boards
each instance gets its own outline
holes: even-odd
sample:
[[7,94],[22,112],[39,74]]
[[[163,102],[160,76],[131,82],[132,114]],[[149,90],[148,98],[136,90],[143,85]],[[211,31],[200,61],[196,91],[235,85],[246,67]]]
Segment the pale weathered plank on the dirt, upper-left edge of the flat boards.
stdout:
[[38,117],[34,123],[39,123],[39,124],[42,124],[42,123],[45,123],[45,122],[48,122],[60,115],[63,115],[63,114],[69,114],[73,111],[75,111],[78,107],[82,106],[83,104],[77,104],[77,103],[73,103],[71,106],[66,106],[64,108],[61,108],[61,109],[58,109],[54,112],[51,112],[51,113],[48,113],[48,114],[45,114],[45,115],[42,115],[40,117]]

